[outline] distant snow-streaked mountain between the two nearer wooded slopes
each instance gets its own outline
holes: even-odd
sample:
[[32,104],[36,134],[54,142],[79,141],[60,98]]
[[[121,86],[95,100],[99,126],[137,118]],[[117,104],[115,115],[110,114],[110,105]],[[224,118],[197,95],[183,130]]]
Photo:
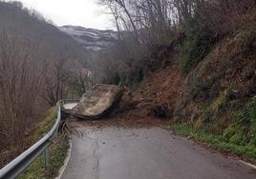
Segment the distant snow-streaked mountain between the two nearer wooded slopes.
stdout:
[[117,40],[117,32],[114,30],[93,30],[76,26],[63,26],[59,30],[75,38],[86,50],[103,50]]

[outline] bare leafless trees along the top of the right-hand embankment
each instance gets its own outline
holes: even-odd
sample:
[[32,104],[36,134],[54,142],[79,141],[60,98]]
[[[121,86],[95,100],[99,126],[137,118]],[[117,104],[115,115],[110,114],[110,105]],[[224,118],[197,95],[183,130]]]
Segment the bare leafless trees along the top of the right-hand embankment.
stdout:
[[120,75],[118,69],[127,70],[124,75],[127,77],[138,73],[136,70],[150,69],[158,62],[164,64],[163,58],[167,49],[173,47],[173,42],[200,39],[195,35],[205,32],[210,43],[214,38],[236,30],[241,14],[255,7],[255,0],[98,1],[111,10],[118,30],[115,48],[111,47],[104,51],[103,57],[97,57],[108,62],[104,64],[99,59],[96,63],[96,66],[105,66],[101,68],[101,73],[107,79],[117,78],[116,74]]

